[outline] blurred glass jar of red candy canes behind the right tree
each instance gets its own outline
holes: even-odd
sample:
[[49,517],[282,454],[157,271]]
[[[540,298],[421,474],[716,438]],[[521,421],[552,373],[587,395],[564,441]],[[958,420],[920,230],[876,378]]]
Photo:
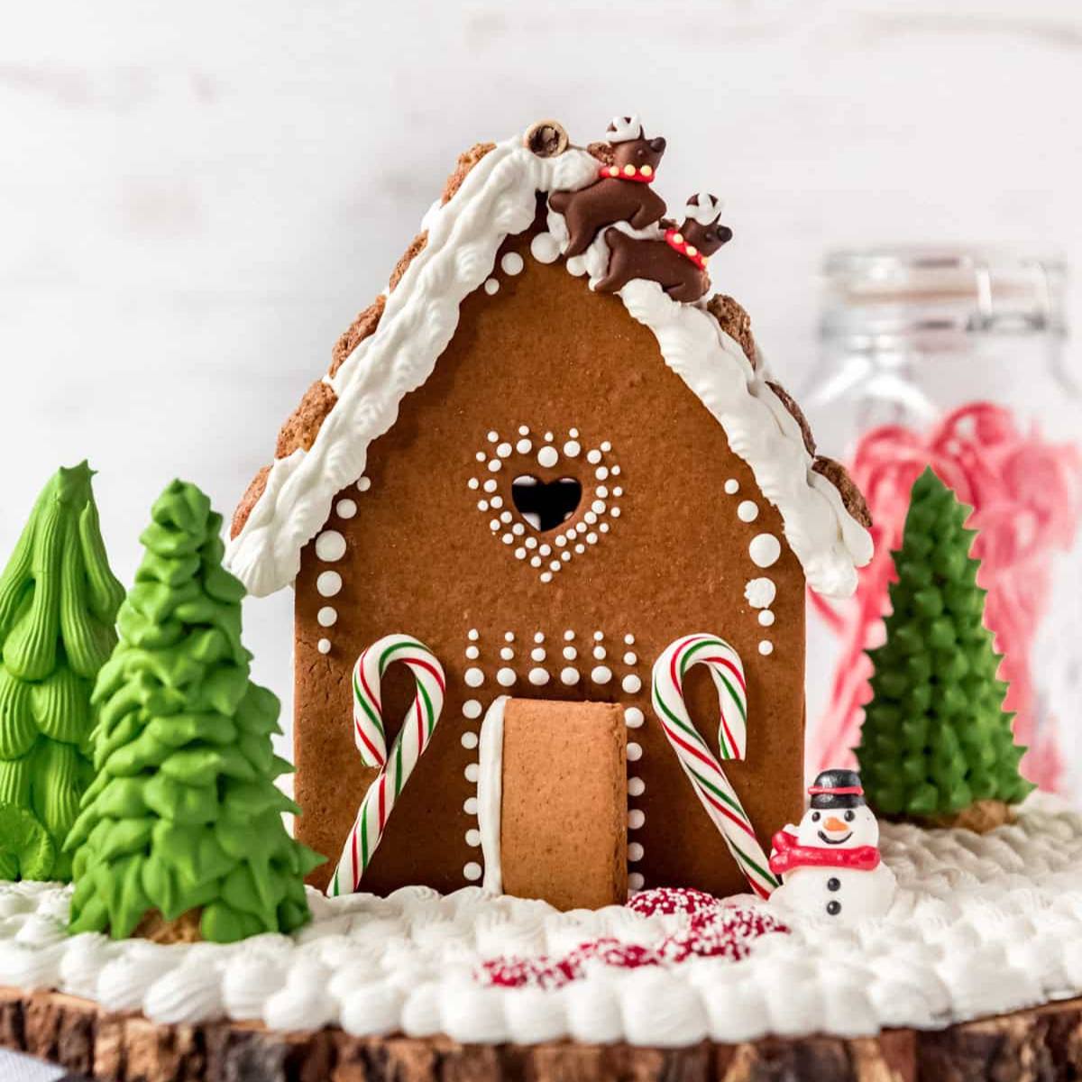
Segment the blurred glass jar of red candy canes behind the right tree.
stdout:
[[931,464],[973,506],[1006,709],[1042,789],[1082,797],[1082,398],[1066,365],[1060,259],[986,248],[840,251],[824,264],[820,359],[800,400],[875,520],[846,602],[813,599],[808,769],[859,740],[890,551]]

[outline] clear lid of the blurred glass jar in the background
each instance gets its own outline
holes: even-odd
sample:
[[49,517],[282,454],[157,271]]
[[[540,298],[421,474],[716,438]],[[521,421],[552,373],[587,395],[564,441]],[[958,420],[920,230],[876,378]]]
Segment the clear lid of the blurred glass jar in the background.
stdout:
[[823,261],[821,334],[850,347],[1065,332],[1061,255],[984,246],[840,250]]

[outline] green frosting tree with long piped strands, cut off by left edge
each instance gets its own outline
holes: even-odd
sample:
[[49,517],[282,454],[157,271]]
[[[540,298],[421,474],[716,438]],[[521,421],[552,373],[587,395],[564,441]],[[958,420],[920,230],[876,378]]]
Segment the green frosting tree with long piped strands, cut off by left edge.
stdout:
[[67,880],[64,839],[93,777],[91,691],[117,643],[85,462],[38,497],[0,576],[0,879]]

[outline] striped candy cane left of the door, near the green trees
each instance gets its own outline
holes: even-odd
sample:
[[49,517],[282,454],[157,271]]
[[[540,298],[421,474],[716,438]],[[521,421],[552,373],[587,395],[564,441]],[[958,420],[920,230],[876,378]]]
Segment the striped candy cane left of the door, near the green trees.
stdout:
[[[388,756],[380,684],[387,667],[396,661],[408,665],[413,673],[417,694]],[[357,819],[327,888],[329,895],[357,889],[395,802],[428,747],[444,709],[445,688],[440,663],[426,646],[409,635],[387,635],[357,658],[353,667],[354,739],[365,766],[378,766],[380,773],[357,809]]]

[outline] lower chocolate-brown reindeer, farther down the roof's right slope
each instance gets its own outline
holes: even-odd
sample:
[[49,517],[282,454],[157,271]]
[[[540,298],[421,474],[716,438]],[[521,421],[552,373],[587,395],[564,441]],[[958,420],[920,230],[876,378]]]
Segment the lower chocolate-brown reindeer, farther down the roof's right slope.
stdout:
[[700,193],[691,196],[684,210],[686,217],[679,228],[665,230],[663,239],[629,237],[619,229],[609,229],[605,241],[609,247],[609,265],[595,289],[599,293],[616,293],[632,278],[656,281],[674,301],[690,304],[710,289],[707,259],[722,245],[733,239],[727,225],[718,225],[722,204],[714,196]]

